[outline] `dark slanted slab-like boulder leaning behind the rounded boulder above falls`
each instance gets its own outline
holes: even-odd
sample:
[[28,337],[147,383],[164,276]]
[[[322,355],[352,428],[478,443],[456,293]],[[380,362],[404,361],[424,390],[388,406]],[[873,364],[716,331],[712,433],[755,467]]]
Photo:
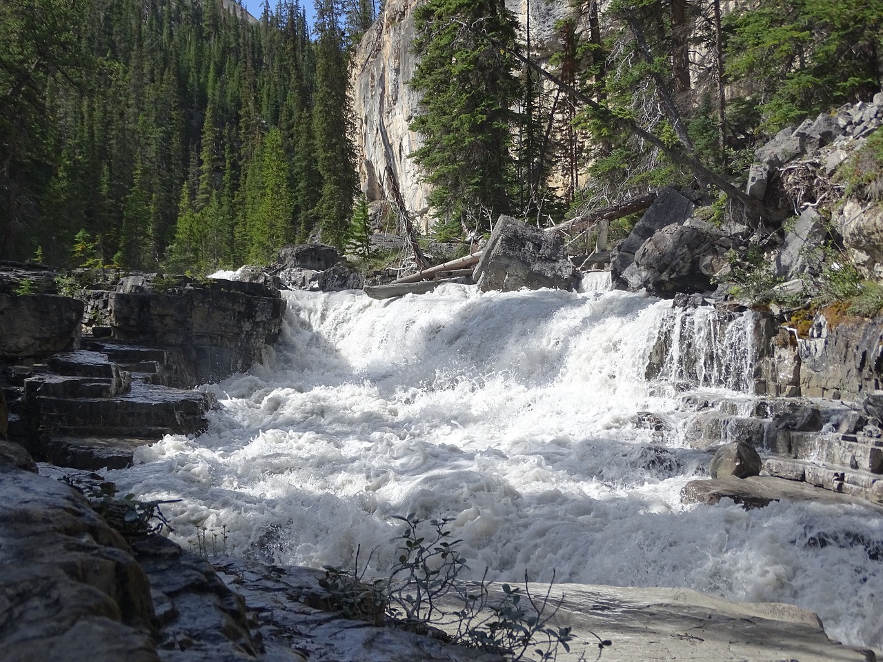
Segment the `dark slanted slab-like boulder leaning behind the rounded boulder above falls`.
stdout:
[[662,189],[630,235],[611,252],[611,276],[616,289],[637,290],[641,287],[637,285],[640,276],[625,275],[626,270],[635,263],[635,254],[660,229],[669,225],[683,225],[691,217],[693,207],[693,201],[674,187]]

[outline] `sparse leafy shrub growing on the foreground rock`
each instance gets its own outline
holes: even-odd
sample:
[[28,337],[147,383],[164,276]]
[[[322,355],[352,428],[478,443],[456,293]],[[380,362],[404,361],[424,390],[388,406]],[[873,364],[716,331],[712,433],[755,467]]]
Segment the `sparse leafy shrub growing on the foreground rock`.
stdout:
[[[563,603],[552,598],[552,582],[535,594],[525,572],[523,586],[502,584],[501,591],[487,581],[487,568],[478,581],[458,580],[467,568],[453,539],[450,519],[423,522],[416,515],[396,516],[404,523],[395,538],[398,553],[389,577],[366,581],[359,570],[358,549],[352,571],[326,566],[321,587],[327,591],[320,606],[343,612],[347,618],[380,625],[385,619],[400,627],[438,636],[512,660],[554,660],[559,649],[570,651],[570,628],[551,625]],[[599,640],[599,653],[608,640]]]

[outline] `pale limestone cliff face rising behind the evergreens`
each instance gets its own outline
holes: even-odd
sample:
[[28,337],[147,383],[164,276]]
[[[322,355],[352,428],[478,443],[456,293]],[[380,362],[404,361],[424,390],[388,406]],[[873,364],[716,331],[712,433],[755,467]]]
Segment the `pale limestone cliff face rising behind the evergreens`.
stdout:
[[[381,16],[358,45],[351,83],[362,191],[369,200],[383,198],[389,169],[398,181],[405,206],[425,222],[426,196],[431,188],[420,182],[419,168],[409,158],[421,143],[419,135],[408,129],[420,102],[419,94],[407,85],[417,64],[411,42],[413,11],[420,2],[387,0]],[[555,22],[573,15],[567,0],[509,0],[506,4],[521,23],[522,39],[530,25],[531,51],[540,64],[560,49]]]

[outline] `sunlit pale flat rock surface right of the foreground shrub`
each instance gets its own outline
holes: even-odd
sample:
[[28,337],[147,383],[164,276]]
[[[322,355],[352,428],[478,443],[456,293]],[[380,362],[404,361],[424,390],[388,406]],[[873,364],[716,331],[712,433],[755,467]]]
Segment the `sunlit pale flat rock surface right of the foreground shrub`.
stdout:
[[[736,603],[691,591],[561,584],[562,608],[555,624],[577,638],[560,662],[594,659],[598,640],[608,639],[604,662],[715,660],[715,662],[867,662],[873,651],[831,642],[814,613],[778,603]],[[531,591],[545,594],[540,584]]]

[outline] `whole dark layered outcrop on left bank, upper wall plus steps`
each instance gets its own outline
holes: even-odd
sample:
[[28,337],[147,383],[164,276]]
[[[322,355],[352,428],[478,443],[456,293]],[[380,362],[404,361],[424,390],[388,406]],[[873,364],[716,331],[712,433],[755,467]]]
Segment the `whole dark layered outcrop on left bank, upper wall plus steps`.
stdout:
[[[27,308],[26,320],[40,329],[22,323],[20,335],[0,337],[9,352],[0,357],[4,436],[50,462],[96,470],[131,465],[136,448],[164,434],[204,430],[215,401],[192,387],[259,360],[279,334],[284,302],[254,283],[185,281],[162,290],[159,282],[132,275],[116,290],[85,290],[85,317],[79,300],[0,295]],[[61,320],[48,312],[60,309],[69,311]],[[13,320],[4,315],[0,325]],[[18,340],[28,333],[30,346]]]

